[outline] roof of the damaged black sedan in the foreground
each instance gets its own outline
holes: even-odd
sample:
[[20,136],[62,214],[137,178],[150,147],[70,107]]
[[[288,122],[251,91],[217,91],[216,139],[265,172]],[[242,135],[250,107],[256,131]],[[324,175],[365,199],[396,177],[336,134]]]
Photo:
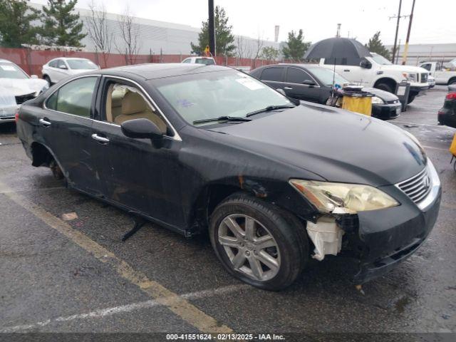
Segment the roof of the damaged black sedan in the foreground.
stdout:
[[113,76],[136,76],[136,78],[142,78],[143,80],[151,80],[170,76],[228,70],[232,70],[232,68],[227,68],[225,66],[205,66],[204,64],[145,63],[103,69],[101,71],[96,71],[96,73]]

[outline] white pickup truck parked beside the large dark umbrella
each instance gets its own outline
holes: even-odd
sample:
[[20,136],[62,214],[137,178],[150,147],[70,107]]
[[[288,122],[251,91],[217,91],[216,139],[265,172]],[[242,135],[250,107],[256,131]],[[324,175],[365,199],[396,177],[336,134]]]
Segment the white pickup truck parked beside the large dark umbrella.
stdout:
[[[337,59],[336,59],[337,61]],[[344,58],[341,58],[342,63]],[[421,90],[429,88],[427,76],[429,72],[418,66],[401,66],[393,64],[388,59],[377,53],[361,58],[361,62],[351,63],[345,61],[343,65],[336,65],[336,73],[348,81],[362,84],[395,93],[396,86],[403,80],[410,82],[408,103],[411,103]],[[334,65],[325,63],[325,58],[320,59],[320,66],[333,70]]]

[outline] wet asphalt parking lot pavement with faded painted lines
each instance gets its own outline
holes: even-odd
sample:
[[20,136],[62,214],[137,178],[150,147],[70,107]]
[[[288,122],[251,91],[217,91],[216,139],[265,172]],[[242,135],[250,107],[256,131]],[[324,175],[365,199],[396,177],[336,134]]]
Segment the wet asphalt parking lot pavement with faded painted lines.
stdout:
[[390,121],[420,140],[440,174],[437,224],[364,294],[341,257],[269,292],[229,276],[207,235],[147,224],[121,242],[132,227],[125,212],[32,167],[14,123],[0,125],[0,332],[455,333],[456,130],[437,125],[445,94],[427,90]]

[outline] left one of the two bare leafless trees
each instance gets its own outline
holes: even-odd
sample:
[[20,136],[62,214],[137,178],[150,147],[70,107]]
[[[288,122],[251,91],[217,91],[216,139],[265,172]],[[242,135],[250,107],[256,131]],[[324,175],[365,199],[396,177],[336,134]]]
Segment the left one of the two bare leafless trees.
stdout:
[[92,1],[89,5],[90,16],[86,20],[88,37],[95,46],[95,52],[101,52],[105,66],[108,65],[108,54],[113,44],[113,33],[108,28],[108,14],[105,5],[98,9]]

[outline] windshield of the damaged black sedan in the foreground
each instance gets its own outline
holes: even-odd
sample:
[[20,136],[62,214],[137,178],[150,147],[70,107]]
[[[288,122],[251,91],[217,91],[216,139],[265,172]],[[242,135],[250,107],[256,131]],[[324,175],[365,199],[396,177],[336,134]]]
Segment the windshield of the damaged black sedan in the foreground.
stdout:
[[270,105],[293,105],[284,95],[239,71],[174,76],[155,82],[158,91],[190,124],[221,116],[245,118]]

